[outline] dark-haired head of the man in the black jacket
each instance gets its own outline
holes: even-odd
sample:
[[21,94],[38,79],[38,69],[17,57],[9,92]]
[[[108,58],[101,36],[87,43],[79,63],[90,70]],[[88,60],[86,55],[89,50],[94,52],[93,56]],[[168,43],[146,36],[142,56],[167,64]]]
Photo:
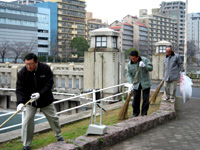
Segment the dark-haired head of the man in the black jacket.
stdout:
[[34,53],[29,53],[25,56],[25,64],[26,64],[26,69],[28,71],[34,71],[37,66],[38,66],[38,59],[37,56]]

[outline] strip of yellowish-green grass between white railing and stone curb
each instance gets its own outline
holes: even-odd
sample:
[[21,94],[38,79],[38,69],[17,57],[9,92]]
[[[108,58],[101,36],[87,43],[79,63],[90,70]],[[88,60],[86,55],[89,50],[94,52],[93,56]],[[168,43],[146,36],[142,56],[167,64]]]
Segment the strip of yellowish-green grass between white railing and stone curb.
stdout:
[[[157,101],[155,104],[150,105],[148,114],[151,114],[152,112],[157,111],[160,106],[160,102],[161,102],[161,95],[159,95],[157,97]],[[131,103],[132,102],[130,101],[130,104]],[[128,117],[129,118],[132,117],[132,110],[133,110],[132,106],[129,105],[129,109],[128,109]],[[118,115],[119,111],[120,111],[120,109],[115,109],[112,111],[105,112],[103,114],[103,124],[109,126],[109,125],[112,125],[112,124],[122,121],[122,120],[117,119],[117,115]],[[99,117],[97,118],[97,120],[98,119],[99,119]],[[90,123],[90,119],[88,118],[88,119],[84,119],[84,120],[75,122],[73,124],[63,126],[62,127],[63,138],[65,139],[65,141],[67,141],[68,139],[74,140],[77,137],[84,135],[87,131],[89,123]],[[39,149],[39,148],[49,145],[50,143],[55,143],[56,141],[57,140],[54,137],[53,131],[35,134],[32,145],[31,145],[31,149],[32,150]],[[9,142],[4,142],[4,143],[0,144],[0,149],[2,149],[2,150],[21,150],[22,142],[21,142],[20,138],[9,141]]]

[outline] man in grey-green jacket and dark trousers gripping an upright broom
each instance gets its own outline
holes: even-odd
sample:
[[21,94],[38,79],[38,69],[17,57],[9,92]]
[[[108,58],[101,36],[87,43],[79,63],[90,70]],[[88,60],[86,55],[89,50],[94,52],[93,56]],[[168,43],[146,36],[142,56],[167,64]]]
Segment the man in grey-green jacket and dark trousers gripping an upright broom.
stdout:
[[[140,67],[140,72],[138,74],[137,80],[133,85],[134,78],[137,74],[138,68]],[[143,103],[141,115],[147,115],[149,109],[149,93],[151,87],[151,78],[149,71],[153,70],[153,66],[149,59],[145,57],[140,57],[137,51],[131,51],[130,62],[127,66],[127,78],[128,82],[132,84],[131,89],[133,90],[133,117],[137,117],[140,114],[140,98],[141,91],[143,94]]]

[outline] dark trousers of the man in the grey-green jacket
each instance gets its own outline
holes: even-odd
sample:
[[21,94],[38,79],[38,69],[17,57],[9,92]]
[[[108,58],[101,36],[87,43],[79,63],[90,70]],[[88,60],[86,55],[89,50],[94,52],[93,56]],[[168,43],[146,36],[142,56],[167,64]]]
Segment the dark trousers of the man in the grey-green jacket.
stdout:
[[140,99],[141,99],[141,91],[143,96],[143,103],[142,103],[142,113],[141,115],[147,115],[148,109],[149,109],[149,92],[150,88],[142,90],[141,84],[139,85],[138,90],[133,91],[133,115],[138,116],[140,114]]

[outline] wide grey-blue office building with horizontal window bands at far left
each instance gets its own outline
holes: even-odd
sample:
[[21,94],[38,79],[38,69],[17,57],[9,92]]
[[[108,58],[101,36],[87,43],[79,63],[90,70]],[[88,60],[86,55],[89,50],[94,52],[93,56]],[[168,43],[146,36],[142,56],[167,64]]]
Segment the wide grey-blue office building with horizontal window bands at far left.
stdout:
[[37,54],[37,12],[37,7],[0,2],[0,46],[5,42],[10,46],[5,61],[13,62],[19,55],[16,60],[22,62],[24,47]]

